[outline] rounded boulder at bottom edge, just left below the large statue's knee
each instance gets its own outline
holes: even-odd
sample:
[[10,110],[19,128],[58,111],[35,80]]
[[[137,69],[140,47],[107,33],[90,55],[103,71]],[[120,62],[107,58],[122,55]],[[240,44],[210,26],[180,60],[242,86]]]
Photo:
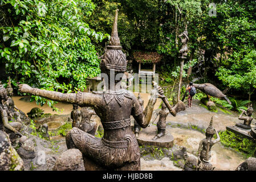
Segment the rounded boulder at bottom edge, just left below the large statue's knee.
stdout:
[[54,171],[84,171],[82,152],[72,148],[62,153],[55,162]]

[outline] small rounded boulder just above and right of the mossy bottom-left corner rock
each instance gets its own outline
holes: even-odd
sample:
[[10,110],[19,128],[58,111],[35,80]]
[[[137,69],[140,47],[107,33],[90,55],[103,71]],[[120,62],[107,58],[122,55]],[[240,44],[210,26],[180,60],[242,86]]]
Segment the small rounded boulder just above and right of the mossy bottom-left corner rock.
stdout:
[[32,140],[26,140],[22,143],[22,146],[17,150],[19,156],[23,159],[34,159],[35,158],[35,146]]

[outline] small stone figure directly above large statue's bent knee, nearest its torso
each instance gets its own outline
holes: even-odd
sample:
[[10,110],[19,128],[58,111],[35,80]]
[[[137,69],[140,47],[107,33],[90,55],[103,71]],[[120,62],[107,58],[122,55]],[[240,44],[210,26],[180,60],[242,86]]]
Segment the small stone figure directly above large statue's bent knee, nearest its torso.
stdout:
[[95,135],[97,129],[97,123],[91,122],[92,115],[96,115],[94,110],[89,107],[82,107],[81,111],[81,122],[79,123],[79,129],[85,131],[88,134]]

